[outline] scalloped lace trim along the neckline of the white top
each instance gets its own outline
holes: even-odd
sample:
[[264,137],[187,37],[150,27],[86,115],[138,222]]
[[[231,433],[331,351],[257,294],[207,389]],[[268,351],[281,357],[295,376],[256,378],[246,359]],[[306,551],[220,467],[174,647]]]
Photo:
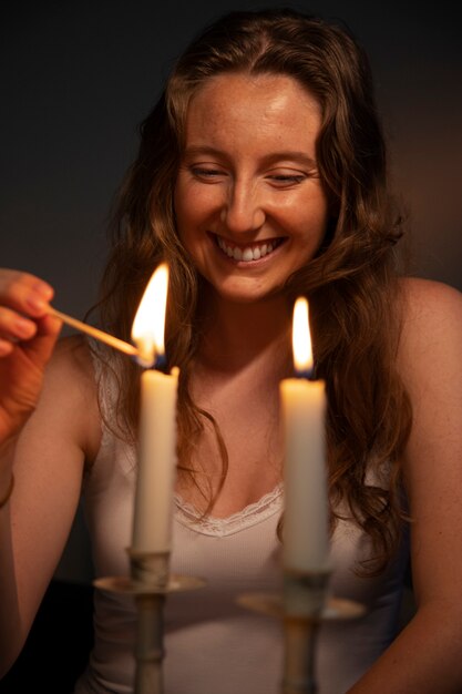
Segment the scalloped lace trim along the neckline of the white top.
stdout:
[[186,528],[199,532],[204,535],[223,538],[240,532],[251,525],[261,523],[270,516],[274,516],[283,508],[283,484],[278,484],[255,503],[246,506],[242,511],[233,513],[227,518],[215,518],[214,516],[202,517],[192,503],[183,501],[175,494],[176,520]]

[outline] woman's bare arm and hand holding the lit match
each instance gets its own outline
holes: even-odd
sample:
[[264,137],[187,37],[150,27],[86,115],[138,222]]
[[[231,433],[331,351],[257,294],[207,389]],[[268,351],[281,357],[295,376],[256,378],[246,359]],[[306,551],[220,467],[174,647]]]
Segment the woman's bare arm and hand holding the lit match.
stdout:
[[[23,646],[99,446],[90,356],[80,338],[65,338],[51,357],[61,325],[45,316],[47,292],[34,282],[0,272],[1,493],[14,474],[0,508],[0,676]],[[44,305],[33,308],[31,296]],[[18,335],[24,316],[29,335]]]

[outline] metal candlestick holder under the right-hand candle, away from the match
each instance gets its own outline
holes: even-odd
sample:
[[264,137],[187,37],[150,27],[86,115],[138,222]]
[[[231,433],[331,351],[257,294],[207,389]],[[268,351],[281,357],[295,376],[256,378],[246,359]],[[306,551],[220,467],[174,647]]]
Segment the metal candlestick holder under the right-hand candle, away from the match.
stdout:
[[325,621],[349,620],[365,613],[360,603],[327,596],[329,571],[285,571],[281,593],[247,593],[240,605],[283,620],[284,673],[281,694],[316,694],[316,643]]

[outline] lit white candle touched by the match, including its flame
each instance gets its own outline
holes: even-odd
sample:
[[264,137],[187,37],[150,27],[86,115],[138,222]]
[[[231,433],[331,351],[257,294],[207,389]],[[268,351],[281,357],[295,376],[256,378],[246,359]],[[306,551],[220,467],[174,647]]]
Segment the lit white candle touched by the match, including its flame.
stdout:
[[[168,268],[154,273],[136,313],[132,338],[146,364],[164,354]],[[153,320],[154,318],[154,320]],[[140,451],[133,516],[132,550],[171,550],[176,478],[176,395],[178,369],[147,369],[141,377]]]

